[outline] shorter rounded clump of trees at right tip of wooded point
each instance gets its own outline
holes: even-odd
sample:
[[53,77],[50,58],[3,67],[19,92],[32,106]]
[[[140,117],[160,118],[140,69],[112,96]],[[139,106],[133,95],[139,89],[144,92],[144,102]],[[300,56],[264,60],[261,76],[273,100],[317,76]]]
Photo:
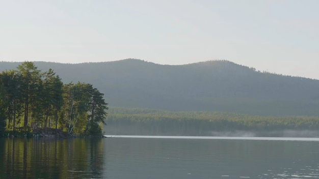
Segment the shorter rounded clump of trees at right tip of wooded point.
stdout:
[[63,89],[62,113],[66,120],[62,123],[66,125],[68,133],[71,134],[76,129],[76,133],[100,134],[99,123],[105,124],[108,109],[104,95],[88,83],[69,83]]

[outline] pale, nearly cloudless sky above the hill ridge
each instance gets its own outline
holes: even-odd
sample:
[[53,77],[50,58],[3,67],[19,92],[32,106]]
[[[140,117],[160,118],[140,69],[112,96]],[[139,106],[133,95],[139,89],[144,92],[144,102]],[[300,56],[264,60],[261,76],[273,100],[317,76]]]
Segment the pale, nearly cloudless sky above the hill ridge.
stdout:
[[0,61],[216,59],[319,79],[317,0],[0,0]]

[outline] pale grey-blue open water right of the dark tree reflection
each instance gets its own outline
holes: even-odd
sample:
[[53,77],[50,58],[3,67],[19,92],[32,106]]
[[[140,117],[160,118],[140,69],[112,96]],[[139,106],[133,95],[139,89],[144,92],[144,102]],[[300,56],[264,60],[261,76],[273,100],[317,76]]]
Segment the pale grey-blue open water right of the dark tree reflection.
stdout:
[[107,143],[105,178],[309,178],[319,174],[317,141],[109,138]]

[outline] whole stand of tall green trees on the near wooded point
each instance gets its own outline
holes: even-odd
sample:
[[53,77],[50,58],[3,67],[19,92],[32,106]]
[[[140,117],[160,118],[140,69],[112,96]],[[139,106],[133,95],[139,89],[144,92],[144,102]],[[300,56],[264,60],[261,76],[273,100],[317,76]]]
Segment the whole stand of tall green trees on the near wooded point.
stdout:
[[99,135],[107,115],[103,94],[89,83],[63,84],[33,62],[0,74],[0,134],[56,128],[69,134]]

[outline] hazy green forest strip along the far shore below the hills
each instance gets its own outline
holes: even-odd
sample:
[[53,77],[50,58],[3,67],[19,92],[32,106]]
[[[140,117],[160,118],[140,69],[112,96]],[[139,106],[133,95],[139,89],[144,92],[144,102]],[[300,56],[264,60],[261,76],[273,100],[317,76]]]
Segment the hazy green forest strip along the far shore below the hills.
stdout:
[[107,121],[114,135],[214,135],[216,132],[319,130],[318,116],[258,116],[212,111],[113,108]]

